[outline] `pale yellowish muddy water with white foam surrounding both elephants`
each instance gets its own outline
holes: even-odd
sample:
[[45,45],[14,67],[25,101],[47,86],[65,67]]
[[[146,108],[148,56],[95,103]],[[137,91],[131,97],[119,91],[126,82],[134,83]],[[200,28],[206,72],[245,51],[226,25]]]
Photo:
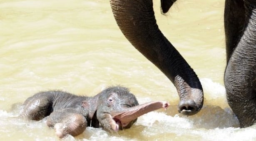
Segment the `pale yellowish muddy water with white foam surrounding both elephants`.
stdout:
[[64,140],[256,140],[256,126],[240,129],[225,98],[224,0],[178,0],[166,15],[159,3],[159,28],[203,85],[201,112],[177,113],[173,84],[124,38],[108,0],[1,0],[0,140],[58,141],[45,120],[18,118],[20,103],[42,90],[92,96],[110,85],[130,88],[140,103],[171,107],[117,134],[87,128]]

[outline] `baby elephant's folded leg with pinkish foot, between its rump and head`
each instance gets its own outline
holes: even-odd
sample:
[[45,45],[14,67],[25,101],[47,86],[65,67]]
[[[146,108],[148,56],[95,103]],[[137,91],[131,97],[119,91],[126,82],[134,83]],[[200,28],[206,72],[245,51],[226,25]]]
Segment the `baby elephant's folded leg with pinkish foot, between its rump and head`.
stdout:
[[67,134],[77,136],[85,131],[87,121],[82,114],[54,111],[47,118],[47,126],[54,127],[55,133],[58,137],[63,138]]

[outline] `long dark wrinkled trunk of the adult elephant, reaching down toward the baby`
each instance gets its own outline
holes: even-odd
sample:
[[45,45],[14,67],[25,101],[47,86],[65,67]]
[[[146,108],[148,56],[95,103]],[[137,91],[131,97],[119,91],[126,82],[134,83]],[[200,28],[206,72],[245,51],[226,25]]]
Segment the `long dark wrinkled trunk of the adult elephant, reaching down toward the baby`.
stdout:
[[[168,2],[166,2],[168,1]],[[176,0],[161,0],[172,5]],[[192,115],[203,106],[203,89],[193,69],[159,30],[152,0],[110,0],[114,18],[130,43],[174,83],[178,111]],[[164,8],[167,12],[168,7]]]

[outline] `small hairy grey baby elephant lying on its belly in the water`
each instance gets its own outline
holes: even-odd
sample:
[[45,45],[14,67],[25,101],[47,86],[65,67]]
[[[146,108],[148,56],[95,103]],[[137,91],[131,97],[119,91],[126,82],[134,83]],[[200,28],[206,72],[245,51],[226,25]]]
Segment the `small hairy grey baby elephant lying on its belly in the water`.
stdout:
[[143,114],[167,108],[168,102],[154,101],[142,105],[125,87],[109,87],[94,97],[72,95],[62,91],[39,92],[27,98],[21,116],[31,120],[47,117],[47,126],[54,127],[56,135],[77,136],[87,126],[107,131],[127,129]]

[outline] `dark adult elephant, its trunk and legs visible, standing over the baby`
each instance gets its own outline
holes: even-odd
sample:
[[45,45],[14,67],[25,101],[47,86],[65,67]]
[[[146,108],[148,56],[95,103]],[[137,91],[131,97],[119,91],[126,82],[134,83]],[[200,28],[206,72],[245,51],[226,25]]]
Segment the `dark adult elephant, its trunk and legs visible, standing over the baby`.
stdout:
[[[168,12],[176,0],[161,0]],[[196,114],[203,106],[199,78],[159,30],[152,0],[110,0],[114,17],[131,44],[174,83],[178,111]],[[256,0],[226,0],[224,14],[228,103],[241,127],[256,123]]]

